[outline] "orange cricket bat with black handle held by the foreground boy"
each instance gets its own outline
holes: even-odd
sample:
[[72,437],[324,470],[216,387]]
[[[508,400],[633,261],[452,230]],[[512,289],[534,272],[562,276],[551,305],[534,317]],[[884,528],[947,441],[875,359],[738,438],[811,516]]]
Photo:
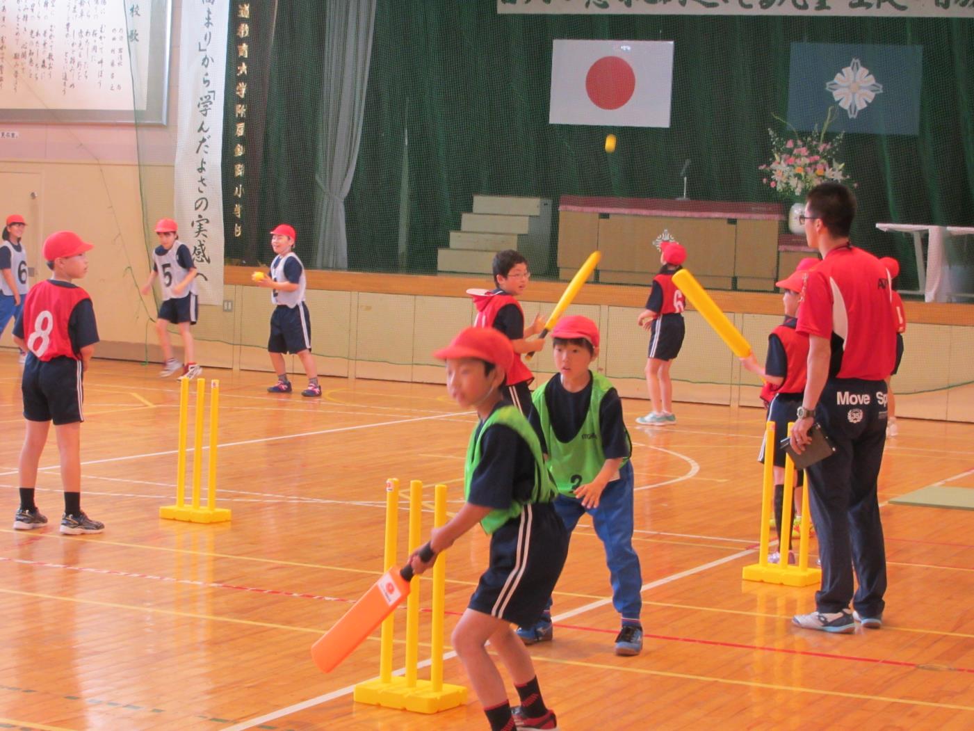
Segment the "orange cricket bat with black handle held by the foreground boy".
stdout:
[[[420,558],[429,562],[432,549],[427,543],[420,549]],[[393,609],[409,596],[409,582],[413,567],[406,564],[400,569],[391,568],[365,594],[352,605],[335,626],[311,647],[311,656],[322,673],[331,673],[339,664],[375,632]]]

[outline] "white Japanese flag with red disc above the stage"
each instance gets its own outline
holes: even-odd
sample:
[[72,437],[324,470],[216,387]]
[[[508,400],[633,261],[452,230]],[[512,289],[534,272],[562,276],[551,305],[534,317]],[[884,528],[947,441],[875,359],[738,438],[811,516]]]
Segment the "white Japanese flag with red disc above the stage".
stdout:
[[669,127],[673,41],[555,41],[553,125]]

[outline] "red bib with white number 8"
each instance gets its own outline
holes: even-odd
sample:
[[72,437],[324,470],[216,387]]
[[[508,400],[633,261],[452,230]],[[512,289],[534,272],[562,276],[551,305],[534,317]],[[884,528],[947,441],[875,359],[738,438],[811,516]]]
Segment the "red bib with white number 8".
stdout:
[[59,356],[78,359],[71,347],[68,321],[75,306],[91,299],[80,287],[58,287],[50,281],[31,289],[23,301],[23,339],[27,350],[38,360],[51,361]]

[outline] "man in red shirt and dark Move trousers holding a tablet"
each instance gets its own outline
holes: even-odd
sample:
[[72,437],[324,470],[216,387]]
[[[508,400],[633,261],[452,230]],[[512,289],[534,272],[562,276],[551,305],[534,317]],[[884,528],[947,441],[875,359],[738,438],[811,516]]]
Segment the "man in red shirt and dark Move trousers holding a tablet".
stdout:
[[[822,586],[816,611],[793,622],[831,633],[854,632],[857,621],[879,629],[886,591],[877,479],[896,327],[885,268],[849,243],[854,216],[852,192],[827,182],[809,191],[801,218],[808,246],[822,262],[805,280],[798,311],[797,330],[808,335],[808,374],[791,442],[803,451],[817,420],[836,452],[808,468]],[[859,579],[854,596],[853,563]]]

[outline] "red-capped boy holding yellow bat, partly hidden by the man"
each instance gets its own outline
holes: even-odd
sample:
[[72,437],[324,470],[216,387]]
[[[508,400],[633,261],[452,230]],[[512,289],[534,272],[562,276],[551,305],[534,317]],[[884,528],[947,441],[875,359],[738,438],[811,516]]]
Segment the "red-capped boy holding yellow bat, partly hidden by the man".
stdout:
[[[798,263],[798,267],[791,276],[775,282],[774,286],[784,290],[782,300],[785,309],[785,321],[771,330],[768,335],[768,357],[765,367],[758,365],[758,360],[752,353],[747,358],[740,359],[741,365],[752,373],[757,373],[765,380],[761,390],[761,399],[768,406],[768,421],[774,422],[774,451],[771,459],[774,464],[774,525],[781,538],[781,512],[783,510],[785,493],[785,450],[781,447],[781,440],[788,436],[788,424],[798,416],[798,407],[802,405],[805,393],[805,376],[807,375],[808,336],[797,332],[798,306],[802,301],[802,290],[805,289],[805,279],[808,272],[818,265],[819,259],[806,256]],[[758,461],[764,462],[765,444],[761,445]],[[805,481],[805,473],[796,474],[792,488],[797,490]],[[792,505],[799,506],[798,496]],[[802,516],[795,516],[795,522],[801,525]],[[780,554],[773,553],[768,557],[769,563],[777,563]],[[789,561],[794,562],[794,556],[789,552]]]

